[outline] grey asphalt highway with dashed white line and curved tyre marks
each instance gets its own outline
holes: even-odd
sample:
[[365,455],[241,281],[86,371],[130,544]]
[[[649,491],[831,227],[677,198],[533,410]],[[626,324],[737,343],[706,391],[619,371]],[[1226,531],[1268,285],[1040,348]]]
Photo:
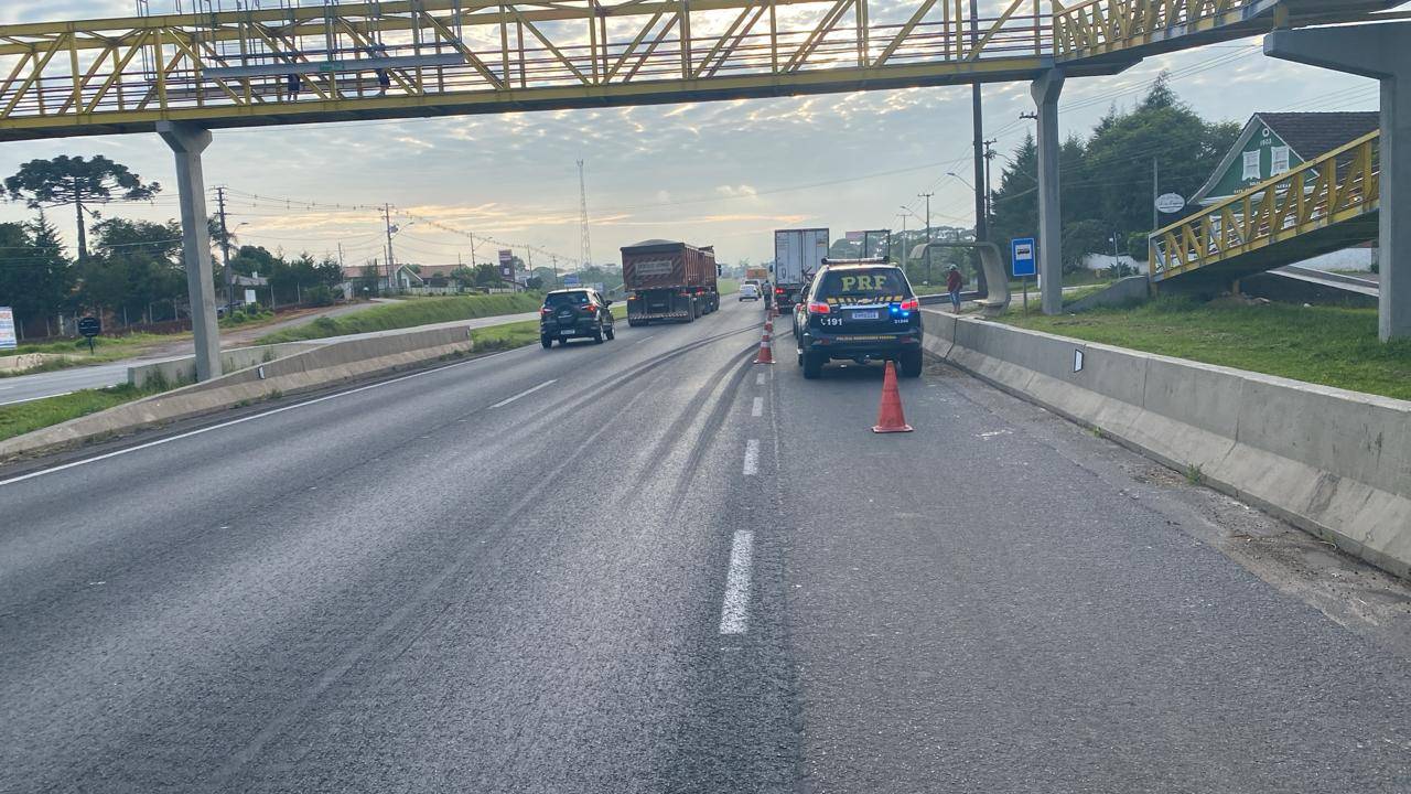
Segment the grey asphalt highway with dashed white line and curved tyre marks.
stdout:
[[1411,790],[1404,585],[938,365],[878,437],[758,307],[619,329],[0,470],[0,791]]

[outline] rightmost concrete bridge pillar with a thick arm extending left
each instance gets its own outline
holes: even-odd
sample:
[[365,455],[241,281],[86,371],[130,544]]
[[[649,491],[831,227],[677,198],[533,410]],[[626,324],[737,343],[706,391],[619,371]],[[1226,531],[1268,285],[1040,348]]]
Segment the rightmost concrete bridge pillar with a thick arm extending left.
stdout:
[[1381,81],[1383,340],[1411,339],[1411,23],[1274,31],[1264,54]]

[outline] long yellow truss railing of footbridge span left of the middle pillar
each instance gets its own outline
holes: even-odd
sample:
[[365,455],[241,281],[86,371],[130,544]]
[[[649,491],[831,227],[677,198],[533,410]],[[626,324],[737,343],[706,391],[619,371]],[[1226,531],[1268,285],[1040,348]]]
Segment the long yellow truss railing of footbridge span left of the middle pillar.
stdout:
[[0,138],[965,82],[1050,55],[1041,0],[978,20],[910,3],[885,21],[868,0],[380,0],[0,25]]

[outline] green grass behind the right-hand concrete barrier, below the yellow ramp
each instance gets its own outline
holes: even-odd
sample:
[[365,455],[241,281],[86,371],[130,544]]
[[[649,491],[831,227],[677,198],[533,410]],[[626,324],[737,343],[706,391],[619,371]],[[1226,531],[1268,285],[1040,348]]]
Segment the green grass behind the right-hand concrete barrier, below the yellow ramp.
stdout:
[[1202,304],[1163,297],[1134,308],[1062,316],[1010,312],[1000,321],[1088,342],[1411,400],[1411,340],[1380,342],[1376,309],[1243,301]]

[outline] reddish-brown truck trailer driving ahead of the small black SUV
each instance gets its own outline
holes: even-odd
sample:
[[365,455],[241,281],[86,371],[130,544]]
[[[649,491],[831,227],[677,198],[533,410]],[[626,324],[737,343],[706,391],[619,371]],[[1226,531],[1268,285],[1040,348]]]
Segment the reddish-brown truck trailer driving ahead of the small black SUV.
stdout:
[[715,249],[645,240],[622,249],[626,324],[691,322],[720,308]]

